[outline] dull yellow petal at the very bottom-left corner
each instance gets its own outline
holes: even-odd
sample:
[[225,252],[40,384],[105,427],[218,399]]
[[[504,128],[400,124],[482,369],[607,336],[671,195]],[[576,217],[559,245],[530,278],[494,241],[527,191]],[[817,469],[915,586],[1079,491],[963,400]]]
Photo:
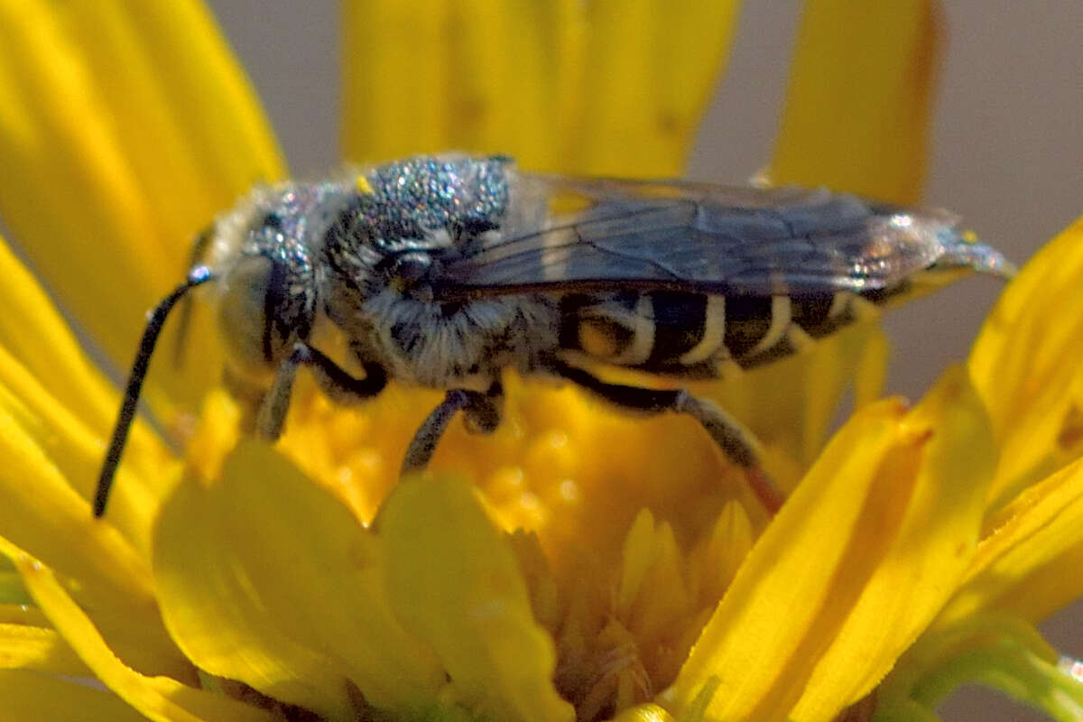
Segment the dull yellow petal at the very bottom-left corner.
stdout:
[[0,670],[0,719],[145,722],[119,697],[86,684],[19,669]]

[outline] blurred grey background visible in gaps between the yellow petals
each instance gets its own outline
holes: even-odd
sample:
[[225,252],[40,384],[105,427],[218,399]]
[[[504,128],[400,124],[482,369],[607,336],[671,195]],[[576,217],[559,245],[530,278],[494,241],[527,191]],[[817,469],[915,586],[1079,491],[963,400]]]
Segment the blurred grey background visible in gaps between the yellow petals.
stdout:
[[[336,0],[209,0],[250,74],[298,174],[338,161]],[[1018,262],[1083,213],[1083,2],[943,0],[945,47],[926,199],[967,220]],[[729,71],[689,174],[741,183],[770,158],[785,92],[797,0],[747,2]],[[888,391],[917,398],[965,357],[1000,285],[971,278],[891,314]],[[1079,574],[1065,569],[1065,574]],[[1083,656],[1083,605],[1043,630]],[[1045,719],[983,691],[945,720]]]

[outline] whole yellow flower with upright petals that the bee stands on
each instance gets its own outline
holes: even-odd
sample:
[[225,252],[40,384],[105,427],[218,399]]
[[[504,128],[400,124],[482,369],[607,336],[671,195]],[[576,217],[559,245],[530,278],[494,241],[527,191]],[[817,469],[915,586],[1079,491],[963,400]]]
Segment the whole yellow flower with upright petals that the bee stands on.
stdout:
[[[692,5],[353,0],[347,154],[676,174],[735,17]],[[913,200],[930,25],[916,0],[809,2],[773,180]],[[123,364],[188,238],[283,178],[279,154],[194,0],[0,0],[0,212]],[[854,84],[860,106],[830,102]],[[117,395],[2,249],[3,711],[903,720],[979,679],[1067,718],[1083,692],[1031,625],[1083,585],[1062,573],[1083,556],[1081,236],[1027,266],[967,365],[913,409],[871,401],[884,345],[869,327],[705,386],[793,489],[774,518],[689,420],[529,380],[509,379],[494,436],[447,435],[434,477],[395,478],[432,393],[342,411],[299,388],[272,449],[206,392],[219,352],[200,332],[200,363],[159,354],[146,399],[164,428],[135,424],[95,521]],[[859,408],[825,445],[851,382]]]

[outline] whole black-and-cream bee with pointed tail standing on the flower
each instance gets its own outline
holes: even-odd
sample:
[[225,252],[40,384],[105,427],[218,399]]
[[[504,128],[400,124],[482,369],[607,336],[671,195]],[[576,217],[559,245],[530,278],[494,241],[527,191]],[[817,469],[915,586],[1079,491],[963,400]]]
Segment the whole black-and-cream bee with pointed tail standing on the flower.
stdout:
[[[826,189],[530,173],[505,156],[417,156],[318,182],[260,187],[203,237],[205,258],[153,311],[102,467],[109,487],[167,315],[211,284],[227,385],[255,428],[283,432],[298,370],[336,402],[390,380],[446,392],[406,451],[422,469],[447,424],[500,422],[501,375],[586,389],[638,413],[693,417],[738,465],[756,444],[683,389],[598,378],[592,366],[718,378],[796,353],[863,310],[961,271],[1010,276],[941,211]],[[329,323],[361,373],[316,345]]]

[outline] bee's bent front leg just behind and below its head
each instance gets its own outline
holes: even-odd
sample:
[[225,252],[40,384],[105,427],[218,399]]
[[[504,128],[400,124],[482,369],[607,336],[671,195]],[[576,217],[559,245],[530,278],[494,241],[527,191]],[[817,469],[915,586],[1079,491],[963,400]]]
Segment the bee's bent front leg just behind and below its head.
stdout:
[[298,341],[293,351],[278,367],[274,385],[260,406],[256,428],[269,441],[276,441],[282,436],[286,409],[289,408],[289,397],[293,391],[293,379],[302,365],[312,370],[319,389],[338,404],[367,401],[383,391],[383,386],[388,384],[388,373],[379,364],[363,364],[365,378],[356,379],[316,349],[304,341]]

